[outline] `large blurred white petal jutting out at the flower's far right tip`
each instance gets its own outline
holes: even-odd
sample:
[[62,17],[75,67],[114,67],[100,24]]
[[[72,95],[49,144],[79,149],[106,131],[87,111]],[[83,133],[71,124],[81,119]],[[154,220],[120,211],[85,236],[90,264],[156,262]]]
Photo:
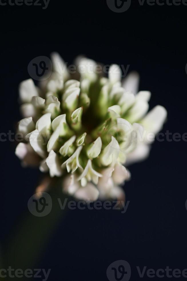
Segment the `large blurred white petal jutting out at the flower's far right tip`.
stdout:
[[167,111],[163,106],[155,106],[141,121],[145,130],[157,134],[164,124],[167,117]]

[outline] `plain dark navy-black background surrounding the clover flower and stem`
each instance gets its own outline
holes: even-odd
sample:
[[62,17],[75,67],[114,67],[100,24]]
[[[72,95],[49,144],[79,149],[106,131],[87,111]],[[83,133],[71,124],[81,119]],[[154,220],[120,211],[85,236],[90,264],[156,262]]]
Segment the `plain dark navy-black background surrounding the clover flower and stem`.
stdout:
[[[51,0],[45,10],[6,5],[0,12],[1,132],[14,131],[21,119],[17,89],[29,78],[29,62],[52,51],[69,63],[85,54],[104,64],[129,64],[129,71],[140,73],[140,90],[152,92],[150,108],[161,104],[168,110],[163,132],[187,132],[187,6],[140,6],[134,1],[128,11],[114,13],[103,0]],[[30,268],[51,268],[48,280],[68,281],[108,280],[108,266],[120,259],[129,262],[134,281],[141,280],[136,266],[187,268],[186,148],[184,141],[156,141],[150,157],[129,168],[132,179],[124,188],[130,204],[125,214],[103,209],[61,214]],[[38,170],[21,167],[14,150],[15,142],[1,142],[3,256],[29,215],[27,201],[41,178]],[[38,231],[34,225],[31,232]],[[27,256],[27,248],[21,248],[27,234],[22,234],[20,247],[16,242],[13,259]],[[45,229],[38,235],[47,236]],[[35,247],[32,239],[28,245]]]

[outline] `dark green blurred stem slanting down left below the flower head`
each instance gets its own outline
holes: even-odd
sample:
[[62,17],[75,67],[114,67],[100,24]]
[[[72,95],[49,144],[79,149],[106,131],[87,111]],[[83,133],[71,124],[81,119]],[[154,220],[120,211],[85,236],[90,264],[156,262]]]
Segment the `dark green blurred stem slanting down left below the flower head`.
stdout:
[[61,187],[53,186],[49,192],[52,198],[52,210],[47,216],[36,217],[29,211],[24,219],[17,225],[17,230],[11,234],[8,239],[8,246],[4,250],[4,264],[6,268],[33,268],[45,251],[47,242],[55,228],[59,224],[59,220],[63,218],[65,210],[61,210],[58,202],[64,201],[65,195],[62,193]]

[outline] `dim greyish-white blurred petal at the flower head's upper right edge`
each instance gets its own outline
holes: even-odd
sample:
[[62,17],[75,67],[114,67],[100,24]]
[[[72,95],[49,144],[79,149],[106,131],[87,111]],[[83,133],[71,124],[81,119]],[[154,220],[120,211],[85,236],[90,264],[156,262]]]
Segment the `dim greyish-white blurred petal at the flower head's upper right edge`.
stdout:
[[138,92],[140,76],[137,72],[131,72],[124,78],[122,86],[126,91],[130,91],[134,94]]

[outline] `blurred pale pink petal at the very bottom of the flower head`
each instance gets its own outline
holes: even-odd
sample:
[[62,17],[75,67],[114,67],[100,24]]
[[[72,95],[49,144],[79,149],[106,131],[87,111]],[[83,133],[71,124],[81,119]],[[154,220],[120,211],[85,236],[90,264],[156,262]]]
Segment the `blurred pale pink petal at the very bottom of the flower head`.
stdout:
[[79,200],[96,201],[99,197],[99,191],[93,184],[87,183],[85,187],[79,188],[74,196]]

